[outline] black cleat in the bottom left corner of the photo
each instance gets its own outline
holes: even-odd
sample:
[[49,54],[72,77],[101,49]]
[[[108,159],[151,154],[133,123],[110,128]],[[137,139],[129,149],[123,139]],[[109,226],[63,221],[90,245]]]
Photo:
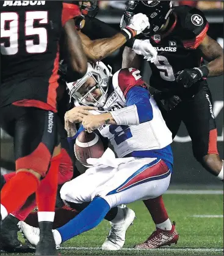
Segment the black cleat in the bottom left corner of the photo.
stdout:
[[0,233],[0,248],[5,252],[34,252],[28,244],[22,244],[18,239],[19,220],[12,215],[8,215],[2,221]]

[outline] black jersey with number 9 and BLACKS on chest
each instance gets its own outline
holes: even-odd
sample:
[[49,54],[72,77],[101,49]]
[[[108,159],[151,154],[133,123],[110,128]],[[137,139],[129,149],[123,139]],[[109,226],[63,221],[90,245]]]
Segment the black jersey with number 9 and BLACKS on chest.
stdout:
[[203,13],[189,6],[175,7],[174,23],[165,34],[155,34],[150,42],[157,49],[154,64],[150,64],[150,85],[161,91],[179,91],[175,74],[184,69],[201,66],[198,45],[208,31],[208,21]]

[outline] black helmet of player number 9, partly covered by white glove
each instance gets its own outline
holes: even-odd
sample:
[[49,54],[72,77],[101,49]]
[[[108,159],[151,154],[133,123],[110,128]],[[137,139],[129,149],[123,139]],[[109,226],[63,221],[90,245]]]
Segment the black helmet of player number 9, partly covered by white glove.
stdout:
[[126,9],[120,26],[126,26],[133,15],[143,13],[150,21],[150,28],[145,29],[143,34],[153,36],[164,26],[172,11],[172,1],[126,1]]

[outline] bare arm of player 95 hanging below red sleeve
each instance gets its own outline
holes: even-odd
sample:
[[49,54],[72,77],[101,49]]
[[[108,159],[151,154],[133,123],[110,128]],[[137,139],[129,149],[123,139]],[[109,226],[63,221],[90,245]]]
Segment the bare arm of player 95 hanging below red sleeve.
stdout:
[[82,48],[81,39],[75,29],[74,20],[68,20],[63,28],[65,30],[65,45],[71,67],[80,74],[80,77],[83,77],[87,72],[87,58]]

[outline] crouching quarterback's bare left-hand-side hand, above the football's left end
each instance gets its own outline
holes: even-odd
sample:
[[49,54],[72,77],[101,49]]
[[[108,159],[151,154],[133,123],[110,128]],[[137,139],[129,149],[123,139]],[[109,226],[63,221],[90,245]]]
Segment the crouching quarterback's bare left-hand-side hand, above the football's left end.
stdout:
[[74,107],[65,113],[65,130],[68,137],[76,135],[76,123],[82,122],[85,116],[92,115],[89,110],[97,110],[95,107],[79,106]]

